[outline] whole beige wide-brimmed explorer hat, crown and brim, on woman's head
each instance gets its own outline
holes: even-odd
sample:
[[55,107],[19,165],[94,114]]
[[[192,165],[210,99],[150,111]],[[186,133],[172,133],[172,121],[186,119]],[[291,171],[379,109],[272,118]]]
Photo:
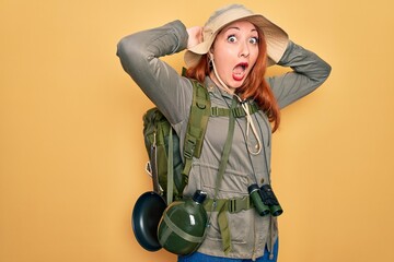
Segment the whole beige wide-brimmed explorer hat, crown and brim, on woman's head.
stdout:
[[184,59],[186,66],[196,66],[201,55],[209,51],[220,29],[237,20],[246,20],[264,32],[269,59],[268,66],[277,63],[287,48],[289,41],[288,34],[262,14],[255,14],[241,4],[231,4],[217,10],[209,17],[202,29],[202,41],[185,52]]

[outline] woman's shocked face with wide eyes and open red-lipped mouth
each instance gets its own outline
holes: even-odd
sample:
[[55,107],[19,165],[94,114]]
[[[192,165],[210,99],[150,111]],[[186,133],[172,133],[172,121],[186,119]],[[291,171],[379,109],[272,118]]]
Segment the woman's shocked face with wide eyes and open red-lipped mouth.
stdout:
[[[211,55],[219,78],[232,92],[242,86],[258,57],[258,33],[247,21],[225,26],[216,37]],[[211,79],[219,85],[213,71]]]

